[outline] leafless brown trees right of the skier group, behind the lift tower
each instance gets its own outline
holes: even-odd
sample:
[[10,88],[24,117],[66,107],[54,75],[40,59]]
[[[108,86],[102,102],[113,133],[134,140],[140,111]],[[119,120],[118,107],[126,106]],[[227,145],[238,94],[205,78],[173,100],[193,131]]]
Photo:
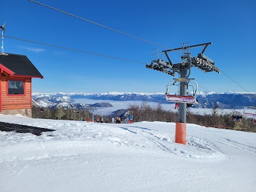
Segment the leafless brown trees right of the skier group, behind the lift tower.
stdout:
[[[129,107],[132,113],[134,122],[148,121],[148,122],[177,122],[178,110],[167,111],[163,109],[161,104],[157,108],[152,108],[147,102],[143,102],[140,106],[131,105]],[[218,106],[211,110],[211,114],[199,115],[187,110],[187,123],[197,124],[206,127],[217,127],[223,129],[236,129],[241,131],[256,132],[256,125],[253,124],[252,118],[242,118],[240,120],[232,120],[231,115],[219,111]]]

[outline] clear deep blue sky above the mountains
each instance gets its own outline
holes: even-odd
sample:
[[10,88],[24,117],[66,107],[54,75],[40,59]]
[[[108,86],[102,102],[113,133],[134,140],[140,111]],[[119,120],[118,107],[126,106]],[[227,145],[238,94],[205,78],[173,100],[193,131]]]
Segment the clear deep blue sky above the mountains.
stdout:
[[[225,74],[193,68],[191,78],[212,92],[256,92],[255,1],[43,1],[109,28],[170,48],[212,42],[205,55]],[[31,1],[1,1],[4,35],[150,63],[143,42]],[[196,56],[200,49],[192,49]],[[33,92],[165,92],[173,77],[145,64],[4,38],[4,52],[24,54],[44,76],[33,79]],[[181,52],[170,54],[180,60]],[[164,58],[164,60],[167,60]],[[199,91],[206,91],[200,88]],[[245,89],[245,90],[244,90]]]

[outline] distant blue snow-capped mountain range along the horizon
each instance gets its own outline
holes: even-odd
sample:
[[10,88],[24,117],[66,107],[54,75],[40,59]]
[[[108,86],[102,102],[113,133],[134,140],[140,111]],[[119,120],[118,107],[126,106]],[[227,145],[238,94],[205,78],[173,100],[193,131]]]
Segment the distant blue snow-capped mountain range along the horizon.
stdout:
[[[33,99],[43,107],[54,108],[56,106],[65,106],[72,108],[86,108],[88,104],[75,104],[74,99],[92,99],[95,100],[94,106],[111,107],[109,104],[97,102],[97,100],[141,100],[145,102],[168,103],[164,93],[33,93]],[[225,109],[244,108],[246,106],[255,106],[256,93],[244,92],[200,92],[196,95],[199,103],[194,105],[195,108],[213,108],[220,106]],[[97,103],[97,104],[96,104]],[[92,105],[93,106],[93,105]]]

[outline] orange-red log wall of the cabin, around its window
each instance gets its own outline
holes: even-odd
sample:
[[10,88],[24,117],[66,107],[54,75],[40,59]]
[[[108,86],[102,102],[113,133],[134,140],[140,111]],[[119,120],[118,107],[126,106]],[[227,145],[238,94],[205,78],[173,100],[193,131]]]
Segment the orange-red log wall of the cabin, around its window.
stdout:
[[31,78],[12,77],[10,80],[24,81],[24,95],[8,95],[8,80],[10,77],[1,78],[1,110],[31,109]]

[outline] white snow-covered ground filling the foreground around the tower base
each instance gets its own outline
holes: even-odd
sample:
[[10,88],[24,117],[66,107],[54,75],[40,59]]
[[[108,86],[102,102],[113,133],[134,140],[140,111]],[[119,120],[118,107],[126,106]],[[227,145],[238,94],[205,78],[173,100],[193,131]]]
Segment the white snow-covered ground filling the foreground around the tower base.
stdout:
[[56,129],[0,131],[0,191],[256,191],[256,134],[175,124],[95,124],[0,115]]

